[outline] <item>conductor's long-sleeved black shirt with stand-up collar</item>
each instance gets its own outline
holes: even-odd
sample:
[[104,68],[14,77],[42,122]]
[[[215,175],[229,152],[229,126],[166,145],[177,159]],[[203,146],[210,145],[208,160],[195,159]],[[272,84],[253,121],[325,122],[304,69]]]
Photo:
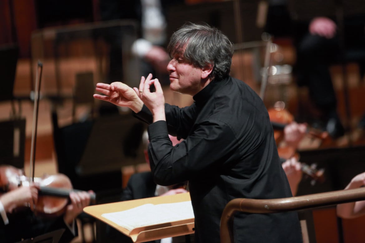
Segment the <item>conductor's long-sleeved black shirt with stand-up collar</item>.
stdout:
[[[264,103],[244,82],[213,81],[189,107],[165,105],[166,122],[149,125],[149,158],[155,183],[189,181],[195,242],[220,242],[220,217],[235,198],[290,197]],[[151,123],[143,106],[136,117]],[[168,132],[184,138],[172,146]],[[235,242],[301,242],[295,212],[236,213]]]

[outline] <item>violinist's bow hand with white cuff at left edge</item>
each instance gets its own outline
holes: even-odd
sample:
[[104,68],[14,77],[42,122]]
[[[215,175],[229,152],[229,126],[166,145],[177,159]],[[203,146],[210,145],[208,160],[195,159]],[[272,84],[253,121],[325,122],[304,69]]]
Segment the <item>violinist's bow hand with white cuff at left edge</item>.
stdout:
[[30,207],[33,211],[38,200],[38,190],[39,185],[31,183],[29,186],[22,186],[3,194],[0,201],[9,213],[18,207]]

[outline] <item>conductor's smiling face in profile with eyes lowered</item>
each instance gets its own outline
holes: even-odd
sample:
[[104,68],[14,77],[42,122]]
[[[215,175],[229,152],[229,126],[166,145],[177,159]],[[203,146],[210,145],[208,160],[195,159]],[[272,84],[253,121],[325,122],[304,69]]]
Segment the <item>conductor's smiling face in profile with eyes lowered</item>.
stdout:
[[195,95],[202,88],[202,69],[194,67],[184,59],[184,50],[174,54],[167,65],[170,73],[170,89],[182,94]]

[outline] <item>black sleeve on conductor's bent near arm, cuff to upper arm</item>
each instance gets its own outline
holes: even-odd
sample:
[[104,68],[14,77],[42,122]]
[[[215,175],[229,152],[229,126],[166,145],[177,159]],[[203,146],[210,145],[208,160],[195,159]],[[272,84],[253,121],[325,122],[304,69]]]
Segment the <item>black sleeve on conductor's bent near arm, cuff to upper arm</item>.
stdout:
[[221,170],[227,154],[233,157],[237,140],[229,126],[220,122],[205,121],[184,141],[172,146],[166,122],[157,121],[148,128],[148,145],[151,171],[155,183],[172,185]]

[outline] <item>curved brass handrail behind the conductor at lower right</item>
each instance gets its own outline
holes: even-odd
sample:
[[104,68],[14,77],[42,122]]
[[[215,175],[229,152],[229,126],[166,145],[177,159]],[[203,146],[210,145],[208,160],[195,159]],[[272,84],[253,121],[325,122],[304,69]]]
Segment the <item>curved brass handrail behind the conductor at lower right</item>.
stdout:
[[319,208],[365,200],[365,188],[323,192],[279,199],[236,198],[229,201],[220,219],[220,242],[233,242],[232,221],[235,212],[278,213]]

